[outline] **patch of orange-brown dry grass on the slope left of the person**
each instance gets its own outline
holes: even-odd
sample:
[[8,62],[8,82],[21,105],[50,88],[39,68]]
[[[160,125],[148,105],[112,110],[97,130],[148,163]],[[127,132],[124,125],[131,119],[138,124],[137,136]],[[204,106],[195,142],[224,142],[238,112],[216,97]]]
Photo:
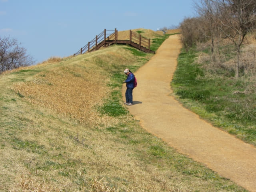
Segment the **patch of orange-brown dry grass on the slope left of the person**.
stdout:
[[16,92],[24,95],[35,104],[45,107],[80,122],[94,118],[92,109],[106,94],[106,85],[100,74],[92,74],[79,67],[61,67],[52,71],[40,72],[32,82],[16,84]]

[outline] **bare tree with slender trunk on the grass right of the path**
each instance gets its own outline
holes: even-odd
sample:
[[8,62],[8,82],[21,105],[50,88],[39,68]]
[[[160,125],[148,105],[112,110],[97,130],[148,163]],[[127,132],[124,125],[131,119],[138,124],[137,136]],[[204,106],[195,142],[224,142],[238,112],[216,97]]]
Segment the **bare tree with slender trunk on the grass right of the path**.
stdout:
[[222,33],[236,47],[236,74],[239,76],[240,48],[248,32],[256,28],[256,0],[212,0],[220,13],[218,24]]

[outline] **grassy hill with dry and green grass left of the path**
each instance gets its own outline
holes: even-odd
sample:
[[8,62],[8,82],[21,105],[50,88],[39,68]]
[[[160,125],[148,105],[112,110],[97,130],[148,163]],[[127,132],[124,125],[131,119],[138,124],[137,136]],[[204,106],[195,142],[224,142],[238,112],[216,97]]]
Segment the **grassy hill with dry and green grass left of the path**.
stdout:
[[[168,37],[139,31],[155,48]],[[152,56],[111,46],[1,74],[0,191],[246,191],[128,113],[123,70]]]

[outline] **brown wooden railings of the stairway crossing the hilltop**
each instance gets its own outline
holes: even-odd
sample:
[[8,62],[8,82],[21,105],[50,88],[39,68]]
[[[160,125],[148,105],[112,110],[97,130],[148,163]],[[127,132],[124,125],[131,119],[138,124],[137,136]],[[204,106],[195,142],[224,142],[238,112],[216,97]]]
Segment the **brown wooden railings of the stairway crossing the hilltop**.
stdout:
[[139,50],[144,52],[155,53],[150,50],[150,39],[142,37],[140,34],[132,32],[130,30],[130,40],[118,40],[118,31],[115,30],[106,30],[104,29],[99,35],[88,42],[84,47],[74,53],[74,56],[78,54],[84,54],[93,50],[98,50],[102,46],[109,46],[111,44],[129,44]]

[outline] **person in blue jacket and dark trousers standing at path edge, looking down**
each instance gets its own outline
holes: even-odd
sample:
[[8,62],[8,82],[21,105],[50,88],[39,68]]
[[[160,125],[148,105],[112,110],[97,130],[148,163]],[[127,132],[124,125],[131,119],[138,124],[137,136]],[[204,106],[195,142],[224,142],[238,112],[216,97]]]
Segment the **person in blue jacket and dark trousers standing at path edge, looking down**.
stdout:
[[134,89],[135,77],[134,77],[134,74],[129,69],[125,69],[124,74],[127,75],[127,79],[123,82],[123,83],[126,83],[126,92],[125,92],[126,102],[124,104],[132,105],[132,90]]

